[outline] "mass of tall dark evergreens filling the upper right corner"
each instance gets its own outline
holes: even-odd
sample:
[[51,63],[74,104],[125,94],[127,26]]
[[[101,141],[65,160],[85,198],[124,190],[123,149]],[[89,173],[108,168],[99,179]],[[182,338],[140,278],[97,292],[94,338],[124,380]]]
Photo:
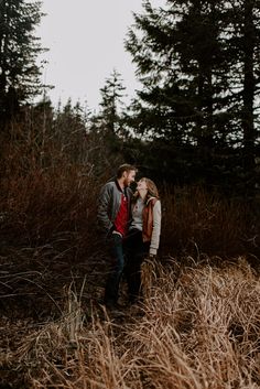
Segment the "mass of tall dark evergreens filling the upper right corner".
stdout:
[[204,172],[226,163],[212,160],[216,150],[243,144],[253,170],[259,22],[259,0],[143,1],[126,41],[143,85],[132,105],[138,133],[192,145]]

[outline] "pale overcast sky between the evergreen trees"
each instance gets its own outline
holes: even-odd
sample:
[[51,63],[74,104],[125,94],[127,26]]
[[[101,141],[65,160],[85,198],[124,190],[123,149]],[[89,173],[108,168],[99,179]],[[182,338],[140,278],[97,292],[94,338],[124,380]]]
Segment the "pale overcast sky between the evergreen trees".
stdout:
[[122,75],[126,101],[134,95],[139,85],[123,39],[133,23],[131,11],[141,10],[141,0],[43,0],[46,15],[36,34],[50,48],[43,82],[55,86],[48,93],[54,105],[71,97],[97,109],[99,89],[113,68]]

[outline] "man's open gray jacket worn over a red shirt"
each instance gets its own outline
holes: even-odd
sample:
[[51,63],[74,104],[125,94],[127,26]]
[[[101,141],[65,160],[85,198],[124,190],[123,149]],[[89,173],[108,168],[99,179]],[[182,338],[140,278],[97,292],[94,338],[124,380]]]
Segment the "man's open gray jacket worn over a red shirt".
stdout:
[[113,230],[113,221],[120,208],[122,193],[124,193],[128,198],[130,221],[132,197],[130,187],[126,187],[122,192],[117,180],[113,180],[106,183],[100,191],[97,204],[97,223],[98,228],[107,235]]

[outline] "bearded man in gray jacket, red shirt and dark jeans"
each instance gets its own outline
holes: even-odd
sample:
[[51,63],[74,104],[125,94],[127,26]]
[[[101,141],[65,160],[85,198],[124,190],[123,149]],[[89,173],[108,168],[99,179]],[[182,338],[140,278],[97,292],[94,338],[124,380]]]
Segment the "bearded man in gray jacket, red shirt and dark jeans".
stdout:
[[105,288],[105,304],[110,310],[117,307],[124,266],[122,240],[131,217],[132,191],[129,186],[134,182],[136,173],[133,165],[119,166],[116,179],[104,185],[98,198],[98,225],[111,261]]

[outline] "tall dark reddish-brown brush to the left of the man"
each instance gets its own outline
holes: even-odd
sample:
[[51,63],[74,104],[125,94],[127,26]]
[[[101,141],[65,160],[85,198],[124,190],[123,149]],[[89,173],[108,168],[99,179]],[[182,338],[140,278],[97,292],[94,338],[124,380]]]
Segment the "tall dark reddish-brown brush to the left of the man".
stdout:
[[110,173],[95,174],[94,149],[99,154],[104,144],[87,139],[83,126],[77,132],[66,117],[61,123],[41,115],[29,109],[0,142],[0,306],[37,320],[61,314],[73,280],[80,288],[91,273],[91,288],[96,198]]

